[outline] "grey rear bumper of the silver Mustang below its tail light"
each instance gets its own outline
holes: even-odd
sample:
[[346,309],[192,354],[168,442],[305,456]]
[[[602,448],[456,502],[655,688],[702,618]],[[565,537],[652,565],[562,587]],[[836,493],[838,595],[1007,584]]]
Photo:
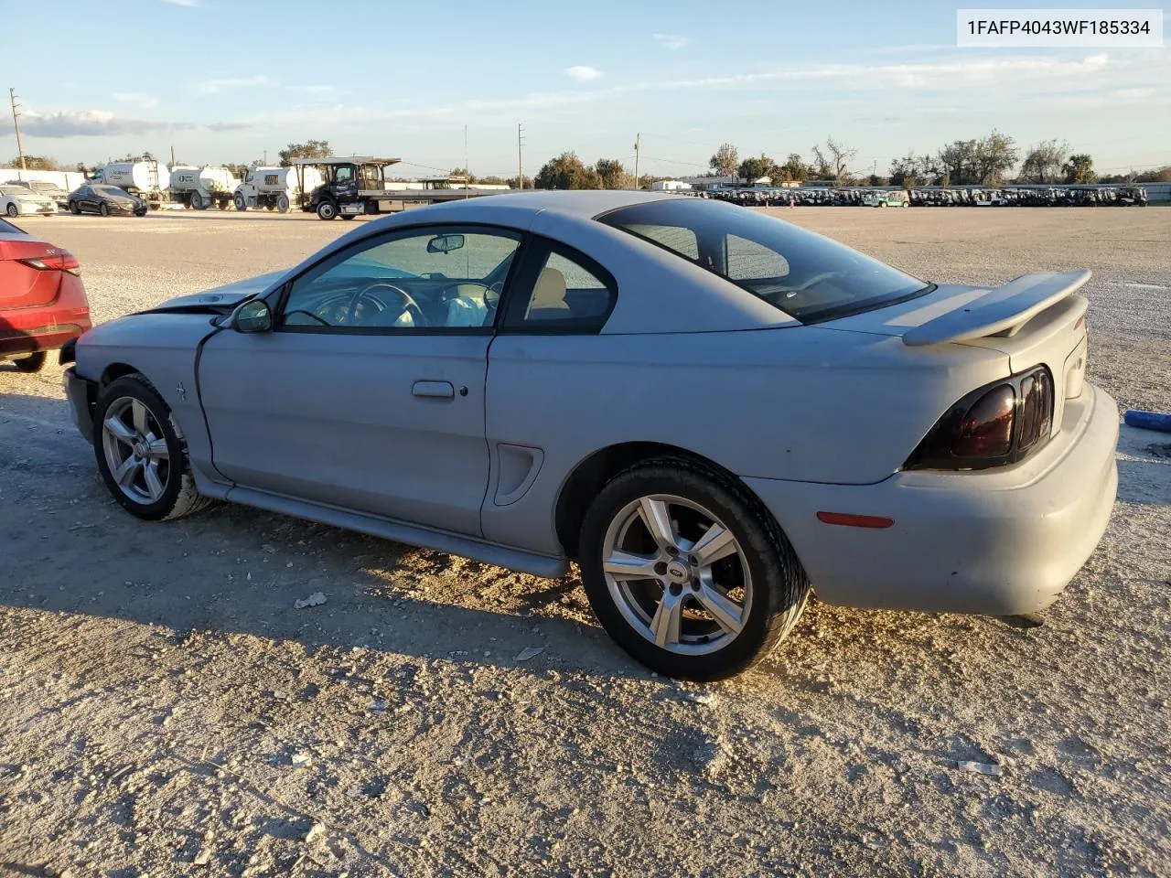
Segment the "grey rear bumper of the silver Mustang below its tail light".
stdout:
[[[746,479],[793,542],[817,596],[848,606],[1034,612],[1094,551],[1118,486],[1118,407],[1086,384],[1062,430],[1005,469],[913,471],[877,485]],[[893,520],[826,524],[819,512]]]

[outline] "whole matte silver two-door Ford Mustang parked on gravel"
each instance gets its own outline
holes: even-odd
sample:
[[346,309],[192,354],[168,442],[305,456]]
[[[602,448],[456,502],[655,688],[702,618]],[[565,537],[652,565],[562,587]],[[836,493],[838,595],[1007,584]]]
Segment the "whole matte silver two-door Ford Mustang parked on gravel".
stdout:
[[717,201],[519,193],[363,225],[62,359],[138,517],[231,500],[539,576],[576,560],[618,644],[715,679],[810,587],[1056,599],[1117,486],[1088,277],[941,286]]

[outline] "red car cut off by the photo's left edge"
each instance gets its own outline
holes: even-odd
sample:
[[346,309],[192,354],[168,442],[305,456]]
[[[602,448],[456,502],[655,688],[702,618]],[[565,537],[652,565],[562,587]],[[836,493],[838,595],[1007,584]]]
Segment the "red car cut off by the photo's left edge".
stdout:
[[0,220],[0,361],[37,372],[47,351],[90,328],[78,270],[68,251]]

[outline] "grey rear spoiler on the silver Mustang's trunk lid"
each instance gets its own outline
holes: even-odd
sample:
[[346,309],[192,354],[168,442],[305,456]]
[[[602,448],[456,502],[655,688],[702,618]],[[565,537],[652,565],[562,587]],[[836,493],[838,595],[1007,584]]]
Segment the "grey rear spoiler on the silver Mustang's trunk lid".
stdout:
[[1002,334],[1013,336],[1046,308],[1070,296],[1090,279],[1089,272],[1025,274],[963,308],[943,314],[903,334],[911,347],[965,342]]

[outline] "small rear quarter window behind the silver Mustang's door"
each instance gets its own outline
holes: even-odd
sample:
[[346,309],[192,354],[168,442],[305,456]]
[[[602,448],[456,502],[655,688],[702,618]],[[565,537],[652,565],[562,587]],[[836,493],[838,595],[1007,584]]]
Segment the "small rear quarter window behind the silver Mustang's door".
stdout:
[[518,284],[509,306],[512,330],[596,332],[614,309],[617,288],[594,260],[547,242]]

